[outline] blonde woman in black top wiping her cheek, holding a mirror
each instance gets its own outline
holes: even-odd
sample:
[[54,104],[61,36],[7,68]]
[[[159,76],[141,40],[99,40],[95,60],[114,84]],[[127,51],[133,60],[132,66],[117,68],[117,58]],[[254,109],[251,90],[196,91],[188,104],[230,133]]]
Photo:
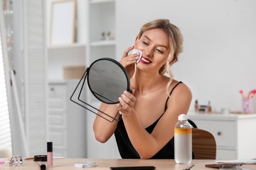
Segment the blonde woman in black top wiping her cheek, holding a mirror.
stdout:
[[[123,53],[119,62],[131,77],[132,92],[123,92],[117,105],[100,105],[108,114],[119,110],[121,120],[110,123],[96,116],[93,124],[101,143],[115,134],[122,158],[174,158],[174,127],[192,100],[188,86],[174,80],[169,68],[178,60],[182,42],[179,28],[169,20],[153,20],[142,25],[134,46]],[[139,63],[139,54],[128,55],[133,48],[142,51]]]

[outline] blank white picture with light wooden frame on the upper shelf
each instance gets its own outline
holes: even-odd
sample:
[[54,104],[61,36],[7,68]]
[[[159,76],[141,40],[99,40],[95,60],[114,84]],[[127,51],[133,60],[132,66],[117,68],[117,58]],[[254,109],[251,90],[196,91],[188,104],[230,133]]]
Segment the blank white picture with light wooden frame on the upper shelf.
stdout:
[[50,44],[75,42],[75,0],[52,0]]

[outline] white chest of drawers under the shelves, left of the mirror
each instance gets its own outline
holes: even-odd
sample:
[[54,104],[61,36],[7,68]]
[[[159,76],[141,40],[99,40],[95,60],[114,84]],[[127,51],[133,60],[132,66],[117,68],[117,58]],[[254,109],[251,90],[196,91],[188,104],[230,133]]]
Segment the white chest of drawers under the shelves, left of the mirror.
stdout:
[[47,141],[53,142],[53,155],[86,158],[85,110],[70,101],[78,80],[49,83]]

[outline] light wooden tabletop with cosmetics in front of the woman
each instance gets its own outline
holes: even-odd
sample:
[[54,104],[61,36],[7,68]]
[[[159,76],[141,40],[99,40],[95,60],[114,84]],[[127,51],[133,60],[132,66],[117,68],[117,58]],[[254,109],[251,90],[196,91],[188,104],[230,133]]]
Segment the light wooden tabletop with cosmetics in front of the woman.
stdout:
[[[6,160],[1,158],[0,160]],[[74,163],[82,163],[86,161],[94,161],[96,167],[86,167],[85,169],[110,169],[110,167],[124,167],[124,166],[154,166],[157,169],[185,169],[188,164],[177,164],[175,160],[127,160],[127,159],[74,159],[74,158],[55,158],[53,159],[53,167],[47,169],[81,169],[79,167],[74,167]],[[205,164],[214,164],[215,160],[192,160],[194,167],[192,170],[197,169],[213,169],[205,167]],[[47,162],[45,162],[47,164]],[[33,160],[24,160],[22,166],[12,167],[9,163],[0,165],[0,169],[18,169],[18,170],[30,170],[39,169],[39,165]],[[256,165],[243,165],[243,169],[256,169]]]

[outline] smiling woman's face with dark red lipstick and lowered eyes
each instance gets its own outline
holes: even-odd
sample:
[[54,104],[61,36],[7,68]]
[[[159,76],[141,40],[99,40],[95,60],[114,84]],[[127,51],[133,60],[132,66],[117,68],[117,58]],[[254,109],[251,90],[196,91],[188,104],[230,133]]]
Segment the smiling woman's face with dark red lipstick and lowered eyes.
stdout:
[[142,51],[138,68],[159,71],[170,54],[169,37],[162,29],[151,29],[136,38],[135,48]]

